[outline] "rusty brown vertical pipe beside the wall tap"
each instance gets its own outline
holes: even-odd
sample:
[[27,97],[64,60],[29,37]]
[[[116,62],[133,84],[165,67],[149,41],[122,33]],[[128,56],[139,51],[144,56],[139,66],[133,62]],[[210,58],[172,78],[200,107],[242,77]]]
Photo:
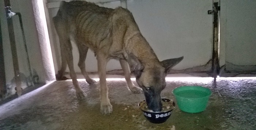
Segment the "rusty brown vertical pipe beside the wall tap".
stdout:
[[[4,0],[5,7],[10,7],[10,0]],[[6,8],[6,14],[7,12]],[[14,74],[15,74],[15,83],[16,83],[16,91],[18,96],[21,96],[22,90],[21,90],[21,80],[20,80],[20,72],[19,72],[19,63],[18,63],[18,56],[17,56],[17,49],[16,49],[16,43],[15,43],[15,37],[14,37],[14,27],[12,23],[12,18],[7,18],[7,25],[8,25],[8,31],[9,31],[9,38],[11,43],[11,52],[12,52],[12,62],[14,66]]]

